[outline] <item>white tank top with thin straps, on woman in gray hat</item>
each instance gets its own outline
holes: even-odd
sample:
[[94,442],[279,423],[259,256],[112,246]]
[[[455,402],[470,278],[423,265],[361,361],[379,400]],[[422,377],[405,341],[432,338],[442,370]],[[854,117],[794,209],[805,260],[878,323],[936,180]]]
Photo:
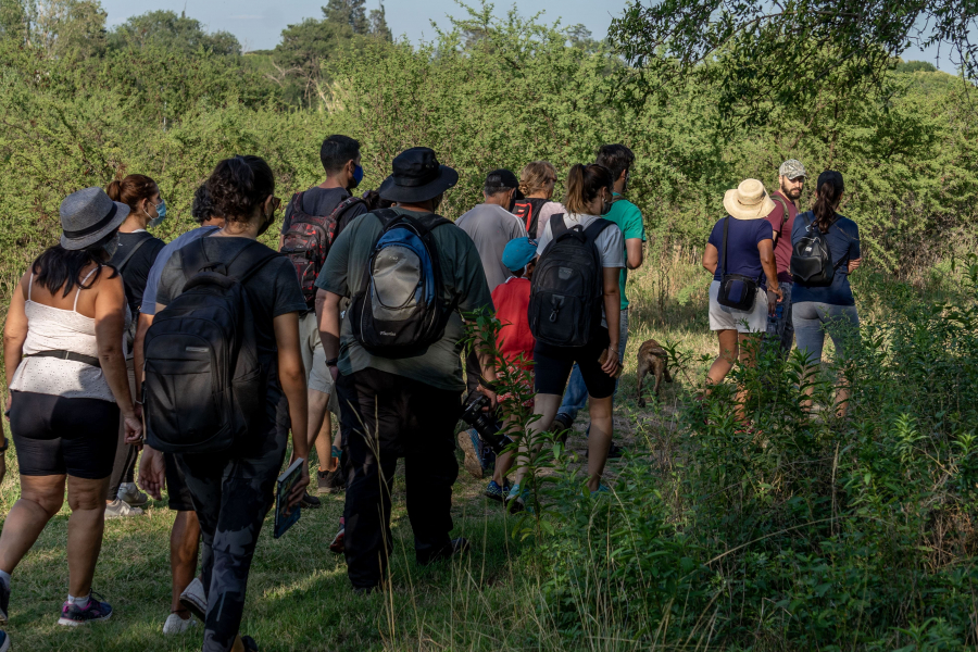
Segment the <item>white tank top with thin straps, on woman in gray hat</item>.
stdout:
[[[83,285],[96,269],[82,279]],[[33,288],[34,274],[30,275],[27,302],[24,305],[24,312],[27,314],[27,339],[24,341],[23,354],[27,356],[41,351],[72,351],[98,358],[95,318],[86,317],[77,310],[82,288],[75,292],[72,310],[32,301]],[[70,399],[102,399],[115,402],[109,381],[100,367],[60,358],[22,359],[10,388]]]

